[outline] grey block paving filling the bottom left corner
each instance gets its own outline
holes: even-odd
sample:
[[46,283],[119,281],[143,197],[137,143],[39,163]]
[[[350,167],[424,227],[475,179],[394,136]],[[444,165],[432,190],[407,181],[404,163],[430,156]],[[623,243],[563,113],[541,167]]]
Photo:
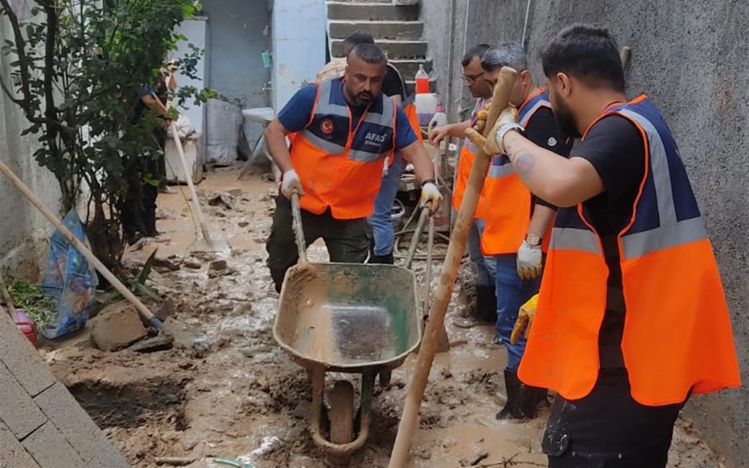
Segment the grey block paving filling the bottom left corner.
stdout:
[[0,314],[0,467],[130,465]]

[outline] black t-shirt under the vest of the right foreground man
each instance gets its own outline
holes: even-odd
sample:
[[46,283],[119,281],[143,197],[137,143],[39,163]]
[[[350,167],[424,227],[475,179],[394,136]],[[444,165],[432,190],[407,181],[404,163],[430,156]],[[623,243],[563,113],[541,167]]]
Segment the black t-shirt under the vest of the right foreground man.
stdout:
[[608,115],[593,125],[584,141],[575,143],[570,151],[574,156],[588,160],[604,183],[604,192],[583,202],[583,207],[601,235],[609,269],[606,312],[598,334],[601,368],[623,368],[625,304],[616,236],[631,220],[645,174],[643,136],[627,118]]

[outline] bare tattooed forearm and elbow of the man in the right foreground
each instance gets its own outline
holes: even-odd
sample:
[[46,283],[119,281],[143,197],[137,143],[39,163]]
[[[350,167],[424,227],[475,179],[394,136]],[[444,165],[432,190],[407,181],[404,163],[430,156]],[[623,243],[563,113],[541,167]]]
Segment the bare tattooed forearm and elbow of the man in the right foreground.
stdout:
[[551,204],[572,207],[604,191],[601,176],[586,159],[562,158],[515,131],[506,133],[503,142],[524,185]]

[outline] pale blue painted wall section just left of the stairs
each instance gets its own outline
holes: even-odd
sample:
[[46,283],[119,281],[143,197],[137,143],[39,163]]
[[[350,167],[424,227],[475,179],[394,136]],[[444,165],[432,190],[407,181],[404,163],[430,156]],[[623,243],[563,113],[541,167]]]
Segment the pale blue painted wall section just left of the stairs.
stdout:
[[324,0],[273,1],[273,108],[279,111],[325,64]]

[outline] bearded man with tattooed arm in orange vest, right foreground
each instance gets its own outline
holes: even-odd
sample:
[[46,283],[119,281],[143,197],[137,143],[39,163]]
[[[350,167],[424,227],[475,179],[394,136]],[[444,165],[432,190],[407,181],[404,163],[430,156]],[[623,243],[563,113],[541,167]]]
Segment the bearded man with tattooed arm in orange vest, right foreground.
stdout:
[[518,377],[558,394],[550,468],[664,468],[687,399],[741,386],[715,256],[673,134],[648,97],[626,99],[608,31],[565,28],[542,64],[562,132],[580,137],[568,159],[514,109],[486,139],[470,132],[560,207]]

